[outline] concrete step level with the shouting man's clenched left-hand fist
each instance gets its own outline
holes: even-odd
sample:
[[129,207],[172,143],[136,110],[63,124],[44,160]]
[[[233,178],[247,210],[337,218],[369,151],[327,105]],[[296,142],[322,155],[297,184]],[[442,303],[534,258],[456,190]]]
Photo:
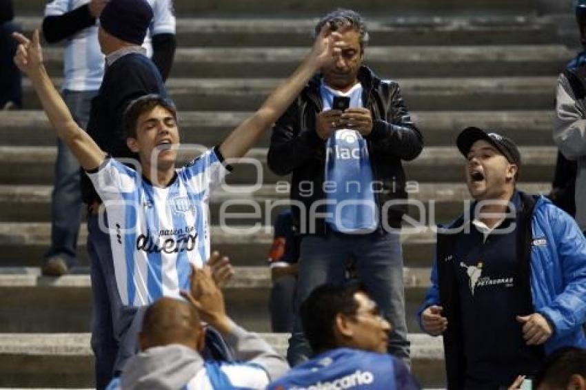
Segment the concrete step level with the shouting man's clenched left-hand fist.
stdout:
[[[0,267],[0,333],[89,331],[91,322],[88,268],[60,278],[40,276],[40,269]],[[407,327],[421,331],[414,314],[430,285],[430,268],[405,268]],[[236,267],[224,291],[230,316],[247,329],[270,331],[268,267]],[[26,310],[23,310],[26,307]]]

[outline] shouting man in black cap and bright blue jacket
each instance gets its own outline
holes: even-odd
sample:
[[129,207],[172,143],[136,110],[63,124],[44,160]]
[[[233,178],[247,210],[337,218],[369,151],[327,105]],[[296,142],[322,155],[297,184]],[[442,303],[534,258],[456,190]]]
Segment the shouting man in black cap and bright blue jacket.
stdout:
[[448,389],[508,387],[554,349],[586,345],[586,240],[547,198],[516,189],[509,138],[468,127],[457,145],[475,202],[438,229],[418,320],[443,334]]

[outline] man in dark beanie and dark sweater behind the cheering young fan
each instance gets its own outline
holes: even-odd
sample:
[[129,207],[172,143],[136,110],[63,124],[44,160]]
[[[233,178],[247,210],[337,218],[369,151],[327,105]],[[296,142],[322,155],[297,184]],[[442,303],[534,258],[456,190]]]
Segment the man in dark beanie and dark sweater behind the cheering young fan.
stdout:
[[[97,95],[91,101],[87,132],[101,150],[113,157],[134,157],[126,145],[123,130],[123,112],[128,103],[146,94],[167,94],[161,72],[141,47],[153,16],[145,0],[110,0],[99,14],[97,38],[105,55],[105,72]],[[125,336],[137,309],[123,310],[119,305],[110,236],[99,228],[99,214],[104,214],[101,199],[85,172],[81,172],[81,193],[88,205],[91,344],[97,388],[103,389],[113,373],[134,353],[133,336],[128,340]]]

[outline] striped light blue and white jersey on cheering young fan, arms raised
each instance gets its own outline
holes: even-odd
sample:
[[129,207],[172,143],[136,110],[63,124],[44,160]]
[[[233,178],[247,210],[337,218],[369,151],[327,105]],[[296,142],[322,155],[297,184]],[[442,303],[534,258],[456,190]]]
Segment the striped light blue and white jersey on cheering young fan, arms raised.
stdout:
[[217,150],[176,170],[168,187],[154,187],[132,168],[108,158],[88,176],[108,214],[114,274],[123,305],[149,305],[188,289],[191,264],[210,256],[208,201],[228,170]]

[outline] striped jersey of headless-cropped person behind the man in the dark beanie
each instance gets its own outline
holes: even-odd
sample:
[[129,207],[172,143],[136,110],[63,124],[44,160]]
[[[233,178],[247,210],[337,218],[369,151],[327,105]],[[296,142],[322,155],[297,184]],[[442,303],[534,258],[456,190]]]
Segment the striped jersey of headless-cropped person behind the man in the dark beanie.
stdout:
[[[143,48],[152,56],[151,37],[156,34],[174,34],[175,16],[172,0],[147,0],[152,7],[153,21]],[[45,6],[45,16],[61,16],[75,10],[90,0],[53,0]],[[102,82],[104,57],[98,43],[98,23],[77,32],[65,42],[61,89],[72,91],[97,91]]]

